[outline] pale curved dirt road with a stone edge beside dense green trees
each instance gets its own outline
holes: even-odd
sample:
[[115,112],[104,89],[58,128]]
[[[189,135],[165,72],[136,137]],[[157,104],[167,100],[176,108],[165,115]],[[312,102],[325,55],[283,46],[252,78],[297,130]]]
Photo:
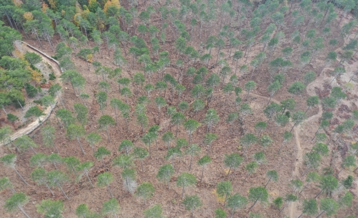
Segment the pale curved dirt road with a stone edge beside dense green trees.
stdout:
[[[22,49],[26,50],[26,52],[33,52],[35,54],[38,54],[41,56],[42,60],[45,61],[46,63],[48,63],[50,66],[52,66],[53,72],[56,75],[56,79],[55,79],[55,83],[59,83],[60,85],[62,85],[61,81],[58,79],[59,76],[61,75],[61,69],[59,64],[57,63],[57,61],[55,61],[54,59],[52,59],[49,55],[47,55],[46,53],[42,52],[41,50],[32,47],[31,45],[29,45],[28,43],[22,41],[21,42],[22,45],[24,45],[22,47]],[[55,104],[53,105],[53,108],[55,107],[56,103],[57,103],[57,96],[55,97]],[[47,107],[44,111],[43,116],[40,117],[41,122],[46,121],[49,116],[51,115],[51,107]],[[11,135],[11,141],[16,140],[17,138],[23,136],[23,135],[27,135],[33,132],[33,130],[37,129],[39,126],[41,125],[41,123],[39,122],[39,119],[36,118],[34,119],[33,122],[29,123],[26,127],[23,127],[19,130],[17,130],[15,133],[13,133]],[[0,146],[2,146],[3,143],[0,143]]]

